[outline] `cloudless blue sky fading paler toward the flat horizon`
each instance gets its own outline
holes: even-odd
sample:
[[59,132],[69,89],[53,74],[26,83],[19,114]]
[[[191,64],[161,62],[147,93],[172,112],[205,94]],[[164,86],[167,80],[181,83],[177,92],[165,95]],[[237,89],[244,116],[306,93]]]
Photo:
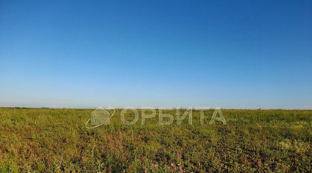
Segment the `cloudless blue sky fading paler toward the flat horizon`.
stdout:
[[311,74],[308,0],[0,0],[0,106],[309,106]]

